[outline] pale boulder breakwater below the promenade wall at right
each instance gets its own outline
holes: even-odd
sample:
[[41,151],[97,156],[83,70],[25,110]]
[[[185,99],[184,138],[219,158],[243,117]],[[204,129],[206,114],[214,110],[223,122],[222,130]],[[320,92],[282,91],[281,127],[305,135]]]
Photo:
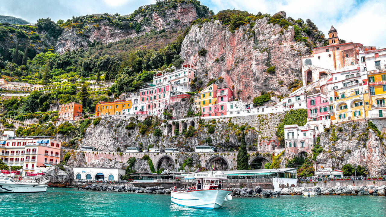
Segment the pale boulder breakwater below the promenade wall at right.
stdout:
[[386,186],[381,185],[369,185],[369,186],[339,186],[336,185],[332,188],[326,188],[321,186],[314,186],[313,188],[303,187],[291,187],[283,188],[280,195],[303,195],[308,190],[315,192],[315,195],[374,195],[374,196],[385,196]]

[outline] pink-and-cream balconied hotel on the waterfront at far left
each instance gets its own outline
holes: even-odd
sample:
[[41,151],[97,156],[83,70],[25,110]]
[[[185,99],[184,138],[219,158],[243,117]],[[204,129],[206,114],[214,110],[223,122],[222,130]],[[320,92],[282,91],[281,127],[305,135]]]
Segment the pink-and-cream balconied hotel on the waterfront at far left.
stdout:
[[61,141],[52,138],[15,137],[4,131],[0,141],[0,159],[8,166],[22,166],[23,173],[37,173],[59,164]]

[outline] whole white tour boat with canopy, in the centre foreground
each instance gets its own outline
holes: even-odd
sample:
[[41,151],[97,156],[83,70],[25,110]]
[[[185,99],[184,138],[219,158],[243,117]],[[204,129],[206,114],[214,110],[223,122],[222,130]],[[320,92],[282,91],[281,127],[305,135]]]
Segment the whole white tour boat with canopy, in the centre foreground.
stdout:
[[224,201],[232,200],[227,181],[227,175],[221,171],[188,174],[173,184],[171,201],[183,207],[220,208]]

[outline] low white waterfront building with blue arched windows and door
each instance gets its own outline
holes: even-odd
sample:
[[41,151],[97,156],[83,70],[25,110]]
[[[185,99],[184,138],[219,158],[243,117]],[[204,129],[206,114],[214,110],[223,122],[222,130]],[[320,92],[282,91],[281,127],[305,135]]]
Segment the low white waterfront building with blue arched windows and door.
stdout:
[[125,175],[124,169],[117,168],[94,168],[94,167],[73,167],[74,179],[85,180],[114,180],[119,181]]

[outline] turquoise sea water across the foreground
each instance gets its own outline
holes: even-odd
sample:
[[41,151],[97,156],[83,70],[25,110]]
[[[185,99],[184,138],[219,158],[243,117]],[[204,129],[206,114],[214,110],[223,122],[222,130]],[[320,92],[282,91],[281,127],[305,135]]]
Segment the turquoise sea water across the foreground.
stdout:
[[46,193],[0,194],[0,217],[267,217],[386,216],[386,197],[281,196],[234,198],[215,210],[179,207],[170,195],[48,188]]

